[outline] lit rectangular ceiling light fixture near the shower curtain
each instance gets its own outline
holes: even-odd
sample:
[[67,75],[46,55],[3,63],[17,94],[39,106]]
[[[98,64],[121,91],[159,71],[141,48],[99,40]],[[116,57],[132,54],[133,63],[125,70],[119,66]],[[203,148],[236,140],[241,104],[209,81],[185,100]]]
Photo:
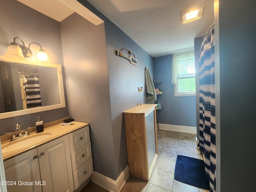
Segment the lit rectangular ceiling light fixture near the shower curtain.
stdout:
[[204,13],[204,5],[200,5],[180,12],[180,22],[187,23],[199,19]]

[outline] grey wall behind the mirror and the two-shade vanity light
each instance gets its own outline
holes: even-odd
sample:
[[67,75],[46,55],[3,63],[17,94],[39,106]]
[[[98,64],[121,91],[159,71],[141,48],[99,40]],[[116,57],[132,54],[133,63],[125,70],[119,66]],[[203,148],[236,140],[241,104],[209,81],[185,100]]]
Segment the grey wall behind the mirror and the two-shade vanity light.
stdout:
[[[41,44],[52,63],[63,66],[59,22],[16,0],[0,0],[0,4],[0,55],[6,53],[7,47],[10,42],[13,42],[14,37],[20,37],[26,46],[30,42]],[[16,42],[21,44],[20,40]],[[35,46],[31,48],[34,55],[28,60],[36,60],[35,57],[40,47]],[[62,68],[62,70],[64,69]],[[65,84],[64,91],[66,93]],[[3,135],[4,132],[14,131],[17,122],[24,129],[29,126],[35,126],[38,116],[44,120],[44,123],[67,117],[67,101],[65,108],[0,120],[0,135]]]

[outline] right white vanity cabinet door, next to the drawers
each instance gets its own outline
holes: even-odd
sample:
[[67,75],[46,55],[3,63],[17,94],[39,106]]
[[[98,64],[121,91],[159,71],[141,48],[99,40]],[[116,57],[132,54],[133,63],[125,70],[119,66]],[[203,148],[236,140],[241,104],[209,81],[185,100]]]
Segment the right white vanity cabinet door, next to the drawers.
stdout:
[[37,148],[43,192],[73,192],[68,135]]

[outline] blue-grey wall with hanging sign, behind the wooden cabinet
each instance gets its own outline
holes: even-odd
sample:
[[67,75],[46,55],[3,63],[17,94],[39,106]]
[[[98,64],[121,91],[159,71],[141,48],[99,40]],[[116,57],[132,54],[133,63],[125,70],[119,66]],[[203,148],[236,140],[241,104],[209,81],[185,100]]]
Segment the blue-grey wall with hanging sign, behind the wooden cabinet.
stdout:
[[[108,76],[110,88],[110,104],[112,116],[112,134],[114,144],[114,160],[116,178],[124,170],[127,162],[126,135],[122,112],[136,106],[140,101],[147,103],[145,88],[145,67],[148,67],[154,78],[153,58],[128,37],[110,20],[102,17],[105,22],[106,45],[108,58]],[[130,64],[124,58],[116,56],[115,50],[127,48],[135,54],[138,66]],[[128,52],[122,53],[128,56]],[[138,87],[143,87],[139,94]]]

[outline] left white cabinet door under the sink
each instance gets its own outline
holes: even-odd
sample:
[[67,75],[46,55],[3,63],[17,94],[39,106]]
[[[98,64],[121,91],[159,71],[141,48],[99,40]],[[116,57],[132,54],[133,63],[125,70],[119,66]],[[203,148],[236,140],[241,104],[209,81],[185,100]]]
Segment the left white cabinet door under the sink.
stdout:
[[[32,149],[4,161],[8,192],[42,192],[37,150]],[[16,182],[16,183],[14,183]]]

